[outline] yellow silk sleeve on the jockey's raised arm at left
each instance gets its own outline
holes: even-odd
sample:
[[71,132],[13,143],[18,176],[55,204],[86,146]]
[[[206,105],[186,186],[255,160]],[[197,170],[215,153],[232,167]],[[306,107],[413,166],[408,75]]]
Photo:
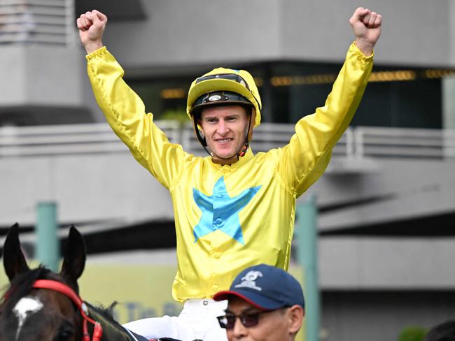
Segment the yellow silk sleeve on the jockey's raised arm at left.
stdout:
[[145,112],[144,103],[125,83],[123,68],[105,47],[87,55],[87,73],[97,103],[113,131],[139,164],[171,189],[189,154],[183,152],[181,145],[169,143],[153,122],[153,114]]

